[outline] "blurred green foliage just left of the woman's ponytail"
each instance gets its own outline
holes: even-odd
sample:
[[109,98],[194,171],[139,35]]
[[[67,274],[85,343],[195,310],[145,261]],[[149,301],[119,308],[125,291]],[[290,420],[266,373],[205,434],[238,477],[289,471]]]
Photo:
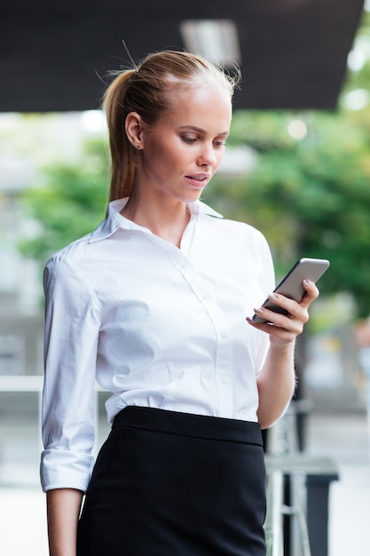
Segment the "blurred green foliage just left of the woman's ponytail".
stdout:
[[42,183],[29,189],[23,203],[42,224],[40,234],[23,240],[20,251],[42,264],[56,250],[91,232],[104,218],[107,155],[103,141],[89,141],[83,160],[44,169]]

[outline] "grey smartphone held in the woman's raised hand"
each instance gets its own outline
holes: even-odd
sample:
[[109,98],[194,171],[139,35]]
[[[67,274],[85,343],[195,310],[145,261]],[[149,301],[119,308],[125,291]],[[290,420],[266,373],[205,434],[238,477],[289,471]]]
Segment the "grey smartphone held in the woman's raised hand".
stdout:
[[[303,280],[307,278],[311,282],[318,282],[329,265],[329,261],[325,258],[300,258],[279,282],[274,291],[281,293],[286,298],[301,301],[305,292],[302,285]],[[264,301],[262,306],[275,313],[288,314],[285,309],[272,303],[269,298]],[[268,322],[259,314],[254,314],[252,320],[253,322]]]

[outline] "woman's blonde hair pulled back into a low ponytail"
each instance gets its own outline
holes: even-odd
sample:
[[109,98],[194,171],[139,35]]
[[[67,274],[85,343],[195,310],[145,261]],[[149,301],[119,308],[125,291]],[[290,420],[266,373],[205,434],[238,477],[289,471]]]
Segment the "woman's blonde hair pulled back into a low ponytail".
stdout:
[[130,196],[136,174],[136,149],[125,132],[125,120],[137,112],[146,125],[154,125],[171,107],[168,92],[196,79],[219,83],[230,92],[239,83],[240,72],[225,73],[208,60],[188,52],[163,51],[149,54],[137,69],[114,72],[114,80],[103,99],[111,151],[110,201]]

